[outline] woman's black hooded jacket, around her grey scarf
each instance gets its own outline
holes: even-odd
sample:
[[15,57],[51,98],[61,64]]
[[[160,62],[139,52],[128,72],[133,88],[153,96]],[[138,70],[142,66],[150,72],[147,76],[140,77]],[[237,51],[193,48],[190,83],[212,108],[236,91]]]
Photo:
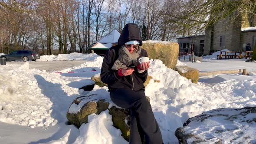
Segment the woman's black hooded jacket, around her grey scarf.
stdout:
[[[137,40],[140,42],[139,46],[142,45],[141,35],[139,28],[134,23],[128,23],[125,25],[124,29],[121,32],[121,35],[118,39],[118,45],[112,46],[105,53],[102,70],[101,70],[101,81],[108,84],[109,91],[115,90],[117,88],[131,89],[134,91],[144,90],[143,83],[146,81],[148,76],[148,71],[145,70],[142,73],[138,72],[137,65],[135,71],[128,76],[119,76],[117,70],[112,70],[115,60],[118,59],[118,50],[122,45],[127,43],[130,40]],[[144,49],[141,49],[141,56],[148,56],[147,52]],[[138,61],[138,59],[137,59]],[[128,65],[133,66],[133,65]]]

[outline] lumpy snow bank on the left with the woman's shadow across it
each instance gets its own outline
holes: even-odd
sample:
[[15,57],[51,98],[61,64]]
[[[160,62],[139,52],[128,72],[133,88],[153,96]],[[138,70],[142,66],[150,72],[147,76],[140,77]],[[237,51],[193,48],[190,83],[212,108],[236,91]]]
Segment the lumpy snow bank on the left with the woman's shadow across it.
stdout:
[[0,121],[6,123],[34,128],[66,121],[67,105],[79,96],[61,75],[29,69],[29,62],[0,71]]

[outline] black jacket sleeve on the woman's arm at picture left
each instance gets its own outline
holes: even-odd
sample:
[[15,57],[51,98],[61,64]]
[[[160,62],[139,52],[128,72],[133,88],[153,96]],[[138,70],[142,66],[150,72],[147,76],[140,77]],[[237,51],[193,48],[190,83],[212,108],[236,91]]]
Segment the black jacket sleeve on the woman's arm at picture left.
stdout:
[[115,50],[114,49],[108,49],[106,52],[103,62],[102,62],[102,70],[101,70],[101,81],[106,84],[111,84],[118,79],[121,79],[121,77],[118,75],[117,70],[112,70],[112,65],[115,61]]

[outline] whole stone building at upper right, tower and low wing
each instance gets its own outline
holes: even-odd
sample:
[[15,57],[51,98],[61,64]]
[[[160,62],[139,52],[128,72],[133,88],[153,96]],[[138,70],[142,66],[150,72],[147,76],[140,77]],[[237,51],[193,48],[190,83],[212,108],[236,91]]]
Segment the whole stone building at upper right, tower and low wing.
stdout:
[[197,56],[209,55],[222,49],[244,51],[247,43],[250,43],[253,50],[256,41],[256,27],[249,26],[256,26],[256,16],[249,19],[247,15],[243,15],[240,18],[236,17],[235,20],[232,16],[226,17],[212,26],[208,26],[203,35],[204,38],[202,35],[178,38],[180,52],[184,52],[183,43],[187,43],[190,49],[194,45],[194,52]]

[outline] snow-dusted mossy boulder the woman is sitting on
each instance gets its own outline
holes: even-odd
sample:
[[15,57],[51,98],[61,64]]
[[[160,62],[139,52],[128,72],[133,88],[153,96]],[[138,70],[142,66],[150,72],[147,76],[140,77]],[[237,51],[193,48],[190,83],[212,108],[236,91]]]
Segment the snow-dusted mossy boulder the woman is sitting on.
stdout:
[[[121,130],[121,135],[126,141],[129,141],[130,136],[130,111],[124,108],[116,108],[112,106],[108,108],[109,102],[104,99],[98,99],[97,94],[81,96],[75,98],[69,107],[67,112],[67,119],[70,124],[74,124],[76,127],[80,127],[83,123],[88,123],[88,115],[93,113],[100,114],[102,111],[109,110],[109,114],[112,115],[112,121],[115,128]],[[96,97],[94,100],[92,97]],[[150,101],[149,97],[146,97]]]

